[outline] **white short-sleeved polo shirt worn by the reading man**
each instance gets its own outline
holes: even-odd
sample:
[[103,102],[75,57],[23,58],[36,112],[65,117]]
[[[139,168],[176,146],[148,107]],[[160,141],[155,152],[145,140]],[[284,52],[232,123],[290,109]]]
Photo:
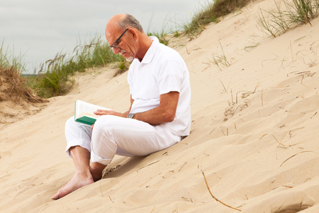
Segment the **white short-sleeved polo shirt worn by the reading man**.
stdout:
[[159,107],[159,95],[179,92],[175,119],[160,124],[176,136],[188,136],[191,129],[191,86],[189,70],[176,50],[150,36],[152,45],[142,62],[134,59],[128,70],[130,94],[134,99],[130,113]]

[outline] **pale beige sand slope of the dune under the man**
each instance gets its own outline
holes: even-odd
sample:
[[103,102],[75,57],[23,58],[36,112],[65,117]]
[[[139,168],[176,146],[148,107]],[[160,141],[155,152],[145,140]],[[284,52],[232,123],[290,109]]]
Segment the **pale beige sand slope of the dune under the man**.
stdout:
[[[174,45],[190,72],[190,136],[116,156],[102,180],[60,200],[51,196],[74,173],[64,136],[74,100],[126,111],[128,73],[77,75],[72,92],[4,126],[0,211],[319,212],[319,19],[268,38],[255,17],[274,6],[254,1]],[[221,55],[230,66],[214,64]]]

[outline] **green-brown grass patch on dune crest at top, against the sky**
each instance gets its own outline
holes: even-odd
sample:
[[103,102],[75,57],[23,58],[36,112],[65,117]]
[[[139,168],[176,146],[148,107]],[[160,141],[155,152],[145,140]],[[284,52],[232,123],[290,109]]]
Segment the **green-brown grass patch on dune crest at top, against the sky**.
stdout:
[[208,23],[218,23],[218,18],[225,16],[237,9],[241,9],[250,0],[215,0],[196,13],[191,23],[184,25],[184,32],[189,35],[195,35],[205,29]]

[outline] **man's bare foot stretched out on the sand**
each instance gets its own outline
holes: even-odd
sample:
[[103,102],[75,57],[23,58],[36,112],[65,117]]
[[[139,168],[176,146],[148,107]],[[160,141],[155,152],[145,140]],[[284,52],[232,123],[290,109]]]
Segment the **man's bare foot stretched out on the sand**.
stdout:
[[84,185],[89,185],[93,181],[93,178],[91,174],[89,175],[80,175],[75,174],[66,185],[62,186],[59,191],[55,195],[51,197],[52,200],[57,200],[61,197],[65,197],[65,195],[69,195],[69,193],[74,192],[75,190],[78,190],[81,187],[84,187]]

